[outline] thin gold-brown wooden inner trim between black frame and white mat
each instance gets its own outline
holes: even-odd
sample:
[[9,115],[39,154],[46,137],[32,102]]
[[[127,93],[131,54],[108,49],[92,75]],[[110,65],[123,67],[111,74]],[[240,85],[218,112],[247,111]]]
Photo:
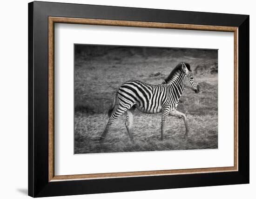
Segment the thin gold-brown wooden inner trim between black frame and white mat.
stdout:
[[[55,176],[54,175],[54,23],[233,32],[234,33],[234,166]],[[48,153],[49,153],[48,154],[48,181],[49,182],[56,181],[56,180],[102,179],[102,178],[138,177],[138,176],[152,176],[152,175],[155,176],[155,175],[172,175],[172,174],[188,174],[188,173],[238,171],[238,27],[202,26],[202,25],[189,25],[189,24],[124,21],[124,20],[98,20],[98,19],[48,17],[48,107],[49,107],[48,108],[49,109],[48,110]]]

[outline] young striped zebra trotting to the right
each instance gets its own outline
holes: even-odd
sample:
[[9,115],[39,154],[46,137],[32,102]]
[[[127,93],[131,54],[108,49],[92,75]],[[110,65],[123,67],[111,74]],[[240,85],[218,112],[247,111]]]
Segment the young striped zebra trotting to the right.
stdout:
[[186,128],[184,137],[186,137],[189,133],[186,115],[176,110],[185,87],[194,90],[195,93],[200,92],[200,86],[191,73],[190,65],[185,62],[175,66],[162,84],[152,85],[138,80],[123,83],[115,91],[112,105],[108,111],[108,123],[100,140],[106,138],[109,127],[115,119],[118,119],[123,113],[127,113],[125,126],[129,138],[133,141],[131,127],[136,108],[142,113],[162,113],[161,140],[163,140],[168,115],[183,119]]

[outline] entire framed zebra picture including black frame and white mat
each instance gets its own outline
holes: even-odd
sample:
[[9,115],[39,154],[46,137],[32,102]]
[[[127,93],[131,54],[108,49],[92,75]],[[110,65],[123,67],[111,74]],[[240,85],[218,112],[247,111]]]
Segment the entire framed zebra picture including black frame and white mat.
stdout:
[[28,4],[28,194],[249,183],[249,16]]

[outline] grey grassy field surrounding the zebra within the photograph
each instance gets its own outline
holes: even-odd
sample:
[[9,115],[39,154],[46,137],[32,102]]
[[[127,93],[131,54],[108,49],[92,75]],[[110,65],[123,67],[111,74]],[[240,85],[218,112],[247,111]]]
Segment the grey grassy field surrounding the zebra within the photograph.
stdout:
[[[218,147],[217,52],[189,49],[142,49],[77,46],[75,53],[74,153],[112,153],[213,149]],[[188,118],[190,133],[182,138],[182,119],[169,117],[160,140],[161,114],[135,111],[134,140],[129,140],[125,115],[116,120],[103,143],[114,91],[125,81],[160,84],[181,61],[188,62],[202,92],[186,89],[177,110]]]

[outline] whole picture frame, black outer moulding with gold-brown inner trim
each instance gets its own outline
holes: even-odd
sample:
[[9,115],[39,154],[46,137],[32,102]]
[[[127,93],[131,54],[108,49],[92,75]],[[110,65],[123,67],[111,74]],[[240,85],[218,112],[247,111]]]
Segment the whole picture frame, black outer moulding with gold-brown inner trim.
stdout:
[[[229,75],[234,75],[234,166],[54,175],[55,23],[233,32],[234,74]],[[249,183],[248,15],[31,2],[28,4],[28,91],[29,196]]]

